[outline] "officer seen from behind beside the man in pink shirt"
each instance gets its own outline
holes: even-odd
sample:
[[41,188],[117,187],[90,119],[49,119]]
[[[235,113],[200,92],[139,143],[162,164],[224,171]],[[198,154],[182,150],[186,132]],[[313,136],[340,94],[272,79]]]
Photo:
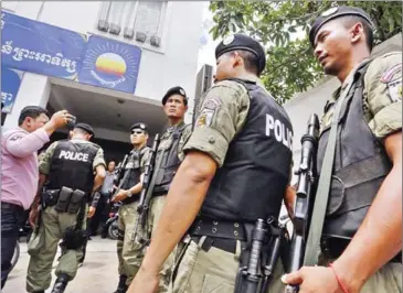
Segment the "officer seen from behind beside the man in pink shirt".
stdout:
[[[35,229],[28,246],[31,254],[28,292],[44,292],[49,287],[52,263],[61,239],[62,256],[52,293],[64,292],[67,282],[77,272],[85,238],[82,231],[86,224],[86,203],[105,178],[104,152],[89,141],[93,135],[91,126],[77,123],[71,131],[72,139],[51,144],[40,163],[40,187],[45,183],[45,191],[38,197],[41,197],[44,209],[38,218],[39,229]],[[91,207],[88,216],[94,213],[95,208]],[[30,217],[38,217],[38,206],[33,206]],[[79,221],[82,227],[77,227]]]

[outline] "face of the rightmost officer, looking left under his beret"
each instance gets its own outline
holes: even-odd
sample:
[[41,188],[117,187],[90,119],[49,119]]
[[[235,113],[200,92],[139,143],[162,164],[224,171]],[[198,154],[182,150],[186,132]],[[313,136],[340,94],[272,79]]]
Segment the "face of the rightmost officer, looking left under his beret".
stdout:
[[353,29],[336,19],[324,24],[315,39],[315,57],[326,74],[338,75],[350,62],[354,42]]

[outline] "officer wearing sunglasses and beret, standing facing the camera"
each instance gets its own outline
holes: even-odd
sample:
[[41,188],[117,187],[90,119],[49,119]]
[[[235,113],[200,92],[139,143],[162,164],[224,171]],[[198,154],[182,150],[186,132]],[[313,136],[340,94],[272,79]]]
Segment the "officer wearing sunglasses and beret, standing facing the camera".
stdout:
[[125,293],[126,283],[129,284],[141,264],[144,246],[132,241],[132,234],[138,220],[137,205],[141,193],[141,174],[149,160],[147,148],[148,129],[145,123],[135,123],[130,128],[130,142],[132,150],[127,155],[127,161],[121,166],[121,186],[116,191],[112,202],[121,202],[119,208],[117,256],[119,260],[119,284],[115,293]]

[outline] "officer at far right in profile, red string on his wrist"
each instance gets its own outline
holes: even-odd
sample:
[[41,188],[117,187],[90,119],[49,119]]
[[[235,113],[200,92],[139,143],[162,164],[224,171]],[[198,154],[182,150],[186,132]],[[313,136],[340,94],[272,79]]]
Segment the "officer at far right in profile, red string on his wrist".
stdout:
[[370,58],[371,20],[353,7],[324,12],[309,40],[325,73],[341,83],[325,107],[318,148],[320,176],[332,175],[329,192],[316,196],[329,194],[320,264],[332,264],[304,267],[285,281],[300,293],[402,292],[402,52]]

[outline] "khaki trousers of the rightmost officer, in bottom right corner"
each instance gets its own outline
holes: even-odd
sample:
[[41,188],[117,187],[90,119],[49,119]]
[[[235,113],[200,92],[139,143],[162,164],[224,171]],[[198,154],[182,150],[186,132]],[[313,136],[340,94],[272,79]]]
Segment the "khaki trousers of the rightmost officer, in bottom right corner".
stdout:
[[[322,259],[320,265],[328,265],[335,259]],[[360,293],[402,293],[402,264],[390,262],[374,273]]]

